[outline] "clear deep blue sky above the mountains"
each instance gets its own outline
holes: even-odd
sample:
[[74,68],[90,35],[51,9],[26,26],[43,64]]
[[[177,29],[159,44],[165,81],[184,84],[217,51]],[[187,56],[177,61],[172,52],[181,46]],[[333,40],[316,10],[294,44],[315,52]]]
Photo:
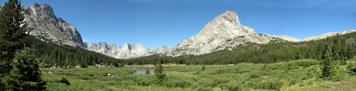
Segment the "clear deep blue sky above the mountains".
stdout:
[[[0,0],[1,3],[6,0]],[[256,33],[297,39],[356,29],[356,0],[22,0],[46,3],[83,41],[173,47],[227,10]]]

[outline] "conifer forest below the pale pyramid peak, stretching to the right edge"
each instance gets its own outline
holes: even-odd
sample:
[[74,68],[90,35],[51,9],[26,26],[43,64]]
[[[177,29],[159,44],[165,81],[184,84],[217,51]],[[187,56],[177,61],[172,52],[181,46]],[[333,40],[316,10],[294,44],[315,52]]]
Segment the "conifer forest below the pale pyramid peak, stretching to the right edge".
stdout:
[[276,42],[268,44],[256,44],[245,42],[232,48],[232,50],[220,50],[204,55],[183,55],[179,57],[167,57],[152,55],[126,59],[125,64],[154,64],[156,61],[162,63],[175,63],[186,65],[197,64],[236,64],[241,62],[251,63],[277,63],[288,62],[294,59],[313,58],[323,59],[326,48],[331,48],[333,58],[336,61],[344,61],[353,58],[356,32],[329,36],[326,39],[302,42]]

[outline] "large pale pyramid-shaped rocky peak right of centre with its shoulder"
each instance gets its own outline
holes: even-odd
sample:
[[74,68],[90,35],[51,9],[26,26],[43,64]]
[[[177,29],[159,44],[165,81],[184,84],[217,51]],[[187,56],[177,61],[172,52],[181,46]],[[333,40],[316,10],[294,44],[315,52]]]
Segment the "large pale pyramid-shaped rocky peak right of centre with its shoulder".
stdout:
[[255,30],[240,23],[235,11],[226,11],[205,25],[201,31],[172,47],[172,51],[163,55],[179,56],[184,54],[201,55],[216,50],[232,49],[246,42],[266,44],[269,42],[299,41],[284,35],[257,34]]

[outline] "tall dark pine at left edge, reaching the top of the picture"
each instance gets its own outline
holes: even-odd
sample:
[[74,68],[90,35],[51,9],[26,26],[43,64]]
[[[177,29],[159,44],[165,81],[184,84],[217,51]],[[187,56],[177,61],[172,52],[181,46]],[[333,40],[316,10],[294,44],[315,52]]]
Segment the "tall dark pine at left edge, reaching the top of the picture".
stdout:
[[0,9],[0,49],[6,52],[7,74],[9,74],[15,50],[28,35],[26,32],[30,33],[30,31],[26,29],[27,22],[23,21],[25,16],[22,13],[20,1],[9,0]]

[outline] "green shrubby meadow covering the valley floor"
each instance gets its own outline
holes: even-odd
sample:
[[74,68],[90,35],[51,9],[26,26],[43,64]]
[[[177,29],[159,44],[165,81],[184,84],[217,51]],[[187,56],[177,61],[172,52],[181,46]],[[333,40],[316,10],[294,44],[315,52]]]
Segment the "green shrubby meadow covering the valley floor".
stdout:
[[[346,65],[337,67],[331,80],[320,78],[319,62],[314,59],[273,64],[240,63],[225,66],[166,66],[166,79],[157,82],[154,75],[131,74],[125,67],[42,69],[94,76],[52,75],[43,73],[47,89],[53,91],[355,91],[356,76],[347,74]],[[147,67],[142,67],[147,68]],[[150,68],[152,69],[152,68]],[[100,77],[98,74],[115,74]],[[330,86],[335,88],[326,88]]]

